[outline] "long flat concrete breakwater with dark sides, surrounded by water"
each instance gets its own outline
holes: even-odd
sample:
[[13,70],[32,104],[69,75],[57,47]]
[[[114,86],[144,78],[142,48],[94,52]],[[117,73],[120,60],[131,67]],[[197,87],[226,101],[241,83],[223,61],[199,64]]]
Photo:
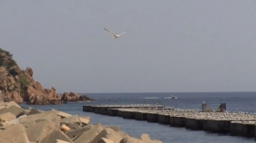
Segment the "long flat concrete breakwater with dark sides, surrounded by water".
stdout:
[[256,138],[256,115],[246,112],[201,112],[180,110],[148,104],[140,105],[94,105],[83,106],[83,111],[101,115],[118,116],[123,119],[158,122],[171,127],[226,133],[231,136]]

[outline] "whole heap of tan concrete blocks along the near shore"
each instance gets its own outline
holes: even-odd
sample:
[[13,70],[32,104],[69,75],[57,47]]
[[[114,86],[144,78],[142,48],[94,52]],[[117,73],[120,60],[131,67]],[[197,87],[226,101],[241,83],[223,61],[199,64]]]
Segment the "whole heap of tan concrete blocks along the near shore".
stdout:
[[14,101],[0,102],[1,143],[162,143],[148,134],[133,138],[118,126],[89,122],[60,110],[25,110]]

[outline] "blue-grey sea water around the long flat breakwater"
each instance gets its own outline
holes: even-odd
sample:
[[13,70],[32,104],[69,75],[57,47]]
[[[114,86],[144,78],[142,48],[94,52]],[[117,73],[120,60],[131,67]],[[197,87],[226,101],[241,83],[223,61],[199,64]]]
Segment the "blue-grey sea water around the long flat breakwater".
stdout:
[[[211,133],[203,130],[190,130],[170,127],[159,123],[149,123],[135,119],[122,119],[84,112],[84,105],[110,104],[159,104],[176,109],[201,110],[201,103],[206,102],[212,110],[217,110],[220,103],[226,103],[226,109],[234,112],[256,113],[256,92],[153,92],[153,93],[81,93],[96,101],[67,102],[59,105],[27,105],[38,110],[61,110],[69,114],[90,117],[90,123],[97,122],[104,126],[118,126],[132,137],[139,138],[141,134],[148,134],[151,139],[159,139],[163,143],[255,143],[254,138],[230,136],[230,134]],[[177,99],[168,99],[171,96]]]

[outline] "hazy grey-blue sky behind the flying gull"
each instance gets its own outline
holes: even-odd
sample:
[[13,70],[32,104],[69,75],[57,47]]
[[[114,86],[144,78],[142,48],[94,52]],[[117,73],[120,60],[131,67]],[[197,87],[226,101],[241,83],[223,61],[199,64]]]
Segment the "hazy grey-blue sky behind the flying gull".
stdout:
[[[0,47],[57,92],[256,91],[255,0],[0,0]],[[122,34],[113,39],[104,30]]]

